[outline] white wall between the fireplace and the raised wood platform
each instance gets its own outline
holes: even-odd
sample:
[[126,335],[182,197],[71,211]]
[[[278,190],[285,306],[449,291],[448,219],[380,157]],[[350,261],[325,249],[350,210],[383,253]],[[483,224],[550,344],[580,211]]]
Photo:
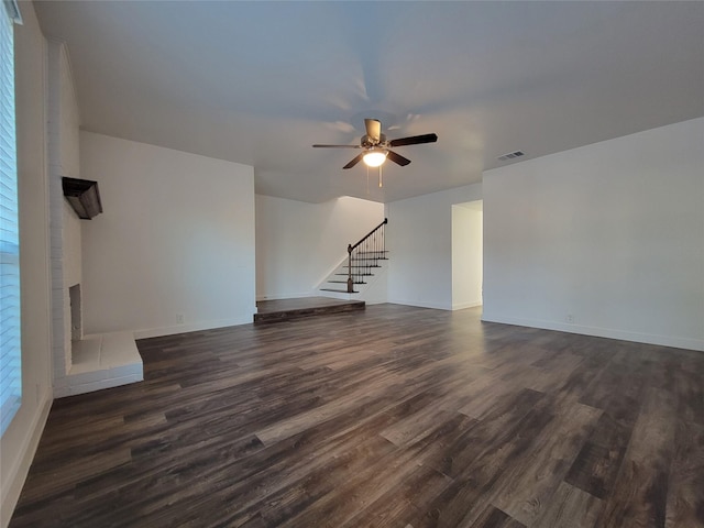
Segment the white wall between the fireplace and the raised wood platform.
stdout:
[[82,223],[86,333],[252,322],[253,167],[89,132],[80,164],[103,206]]

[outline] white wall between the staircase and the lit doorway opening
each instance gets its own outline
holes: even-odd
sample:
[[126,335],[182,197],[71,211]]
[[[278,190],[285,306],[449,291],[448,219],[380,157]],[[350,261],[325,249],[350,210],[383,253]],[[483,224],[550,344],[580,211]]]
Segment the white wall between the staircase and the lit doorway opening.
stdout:
[[386,205],[388,301],[452,309],[452,206],[482,199],[482,184]]

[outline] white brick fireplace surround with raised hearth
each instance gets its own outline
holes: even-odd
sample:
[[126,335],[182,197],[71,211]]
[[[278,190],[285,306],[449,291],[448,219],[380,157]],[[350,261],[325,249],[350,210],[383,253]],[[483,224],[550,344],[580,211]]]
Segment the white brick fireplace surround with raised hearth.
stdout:
[[[81,220],[64,197],[62,177],[80,177],[79,114],[64,43],[48,42],[48,172],[54,397],[142,381],[132,332],[84,334]],[[73,317],[72,317],[73,316]]]

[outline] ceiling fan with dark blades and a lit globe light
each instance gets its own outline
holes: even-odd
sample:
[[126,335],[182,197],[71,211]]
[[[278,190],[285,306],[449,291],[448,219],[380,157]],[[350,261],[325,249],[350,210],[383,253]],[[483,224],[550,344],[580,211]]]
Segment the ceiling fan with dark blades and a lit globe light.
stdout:
[[386,134],[382,134],[382,122],[378,119],[365,119],[364,127],[366,134],[362,136],[359,145],[312,145],[316,148],[362,148],[364,152],[355,156],[342,168],[352,168],[362,160],[370,167],[381,166],[387,158],[400,165],[408,165],[410,160],[396,154],[391,147],[418,145],[420,143],[435,143],[438,141],[437,134],[411,135],[397,140],[387,140]]

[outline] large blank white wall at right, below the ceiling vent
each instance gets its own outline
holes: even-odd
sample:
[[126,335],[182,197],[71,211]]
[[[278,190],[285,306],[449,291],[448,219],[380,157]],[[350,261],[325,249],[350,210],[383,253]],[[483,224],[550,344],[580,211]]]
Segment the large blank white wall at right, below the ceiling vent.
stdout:
[[704,118],[484,174],[484,320],[704,350]]

